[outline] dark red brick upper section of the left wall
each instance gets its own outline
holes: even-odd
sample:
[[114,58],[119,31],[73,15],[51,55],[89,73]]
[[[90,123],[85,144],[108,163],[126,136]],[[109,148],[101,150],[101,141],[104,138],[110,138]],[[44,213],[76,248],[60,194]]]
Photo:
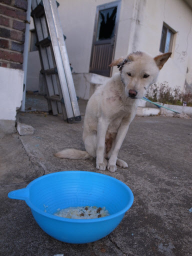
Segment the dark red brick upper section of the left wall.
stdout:
[[0,0],[0,66],[22,69],[27,0]]

